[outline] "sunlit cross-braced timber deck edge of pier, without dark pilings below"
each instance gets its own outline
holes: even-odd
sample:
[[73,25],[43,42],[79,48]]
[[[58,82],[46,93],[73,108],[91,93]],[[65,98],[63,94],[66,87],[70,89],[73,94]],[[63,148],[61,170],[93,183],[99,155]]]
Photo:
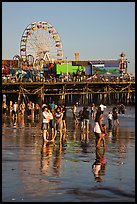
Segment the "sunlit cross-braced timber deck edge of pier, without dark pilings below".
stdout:
[[2,93],[68,95],[133,93],[134,81],[124,82],[14,82],[2,83]]

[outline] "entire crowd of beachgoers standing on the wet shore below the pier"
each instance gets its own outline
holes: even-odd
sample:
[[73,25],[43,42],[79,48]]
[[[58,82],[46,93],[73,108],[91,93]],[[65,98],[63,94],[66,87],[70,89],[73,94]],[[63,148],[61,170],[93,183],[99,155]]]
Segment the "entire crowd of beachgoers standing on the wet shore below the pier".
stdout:
[[[96,147],[99,148],[101,146],[101,142],[103,142],[103,146],[106,147],[105,135],[107,135],[107,129],[111,130],[113,126],[119,126],[119,107],[123,107],[123,104],[118,107],[113,107],[112,111],[109,111],[107,115],[108,124],[103,123],[103,114],[106,109],[105,105],[100,104],[99,106],[95,106],[95,104],[92,103],[90,108],[88,106],[84,106],[81,110],[79,110],[79,112],[77,111],[77,107],[78,103],[75,103],[71,107],[74,127],[77,128],[80,126],[81,132],[89,132],[89,120],[91,118],[91,120],[94,121],[93,132],[96,137]],[[58,133],[60,135],[60,140],[65,139],[67,128],[67,109],[65,104],[57,105],[54,101],[52,101],[52,103],[43,104],[42,107],[40,107],[38,103],[34,104],[32,101],[28,101],[27,104],[24,101],[20,104],[10,101],[10,106],[8,107],[4,101],[2,104],[2,113],[6,115],[8,110],[10,112],[10,116],[13,117],[14,125],[16,125],[17,116],[21,115],[24,117],[25,112],[27,117],[34,117],[35,115],[35,117],[39,118],[41,114],[41,132],[45,142],[54,141]]]

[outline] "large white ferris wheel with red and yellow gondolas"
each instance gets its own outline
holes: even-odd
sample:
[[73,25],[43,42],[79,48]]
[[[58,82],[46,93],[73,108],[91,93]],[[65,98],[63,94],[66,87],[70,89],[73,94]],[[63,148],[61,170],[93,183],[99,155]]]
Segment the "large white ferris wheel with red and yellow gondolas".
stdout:
[[63,47],[57,30],[46,21],[29,24],[20,41],[23,61],[53,61],[63,59]]

